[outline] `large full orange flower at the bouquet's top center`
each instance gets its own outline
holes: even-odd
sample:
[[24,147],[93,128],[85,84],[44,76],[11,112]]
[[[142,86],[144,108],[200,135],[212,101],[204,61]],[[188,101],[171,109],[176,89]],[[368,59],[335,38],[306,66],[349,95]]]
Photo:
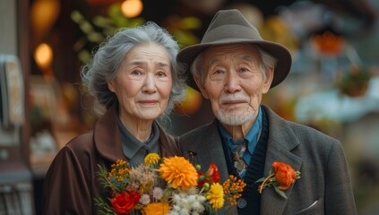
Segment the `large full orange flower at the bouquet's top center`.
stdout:
[[163,158],[163,163],[157,170],[160,176],[172,184],[172,187],[183,187],[185,189],[197,185],[197,171],[194,166],[183,157]]

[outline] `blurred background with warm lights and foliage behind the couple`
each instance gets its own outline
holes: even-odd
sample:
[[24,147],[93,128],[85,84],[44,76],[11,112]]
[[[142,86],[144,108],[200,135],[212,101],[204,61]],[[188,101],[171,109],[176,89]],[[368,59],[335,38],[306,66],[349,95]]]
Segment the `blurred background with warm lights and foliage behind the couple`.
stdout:
[[[41,214],[41,187],[56,151],[97,116],[79,71],[122,27],[157,22],[181,47],[212,16],[237,8],[289,47],[287,80],[263,103],[342,142],[359,214],[379,214],[379,2],[375,0],[0,1],[0,214]],[[212,120],[187,88],[167,125],[181,134]]]

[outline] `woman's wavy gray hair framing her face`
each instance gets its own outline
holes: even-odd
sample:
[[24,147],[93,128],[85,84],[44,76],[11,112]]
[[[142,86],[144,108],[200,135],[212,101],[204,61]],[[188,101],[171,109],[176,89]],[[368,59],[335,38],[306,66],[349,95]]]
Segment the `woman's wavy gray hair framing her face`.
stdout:
[[116,94],[108,89],[108,81],[116,78],[118,69],[132,48],[149,42],[166,48],[172,70],[172,90],[168,107],[159,116],[159,121],[167,120],[175,104],[184,99],[185,70],[176,60],[179,51],[177,42],[167,30],[160,28],[154,22],[146,22],[135,28],[117,30],[114,36],[108,37],[99,45],[96,53],[92,54],[90,63],[82,67],[82,84],[94,98],[96,113],[103,114],[108,107],[118,102]]

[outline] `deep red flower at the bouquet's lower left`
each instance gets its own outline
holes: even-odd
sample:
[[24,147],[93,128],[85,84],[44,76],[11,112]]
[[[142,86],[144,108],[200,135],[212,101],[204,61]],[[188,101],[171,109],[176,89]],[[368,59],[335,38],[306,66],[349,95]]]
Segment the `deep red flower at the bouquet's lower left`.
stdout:
[[112,209],[119,214],[128,214],[134,209],[134,206],[139,201],[140,197],[140,193],[134,190],[129,193],[126,193],[125,191],[122,193],[116,193],[115,196],[110,199]]

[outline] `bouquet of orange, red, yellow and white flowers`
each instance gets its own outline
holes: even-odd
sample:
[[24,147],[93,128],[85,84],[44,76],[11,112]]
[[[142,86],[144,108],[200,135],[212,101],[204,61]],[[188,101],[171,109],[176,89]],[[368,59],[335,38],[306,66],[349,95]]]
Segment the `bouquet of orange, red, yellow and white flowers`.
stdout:
[[136,168],[125,160],[117,160],[109,172],[99,168],[101,183],[111,190],[108,200],[95,199],[99,214],[217,214],[225,202],[236,205],[245,187],[235,176],[221,185],[213,163],[202,173],[183,157],[161,159],[156,153]]

